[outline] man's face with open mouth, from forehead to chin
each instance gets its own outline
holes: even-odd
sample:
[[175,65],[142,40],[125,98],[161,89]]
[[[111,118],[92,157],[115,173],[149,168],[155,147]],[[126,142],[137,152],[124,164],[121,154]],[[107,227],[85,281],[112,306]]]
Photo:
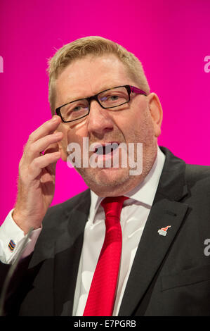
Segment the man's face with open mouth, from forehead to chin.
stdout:
[[[131,79],[126,67],[116,56],[86,56],[68,65],[56,80],[55,108],[119,85],[135,86],[136,82]],[[133,94],[129,104],[125,104],[120,111],[105,110],[93,100],[86,118],[79,122],[61,123],[59,130],[63,132],[64,138],[60,150],[63,160],[67,160],[67,144],[76,142],[81,146],[81,165],[83,164],[84,137],[88,138],[89,146],[93,143],[110,142],[123,142],[127,146],[129,143],[142,143],[143,172],[140,175],[130,175],[129,166],[77,168],[88,187],[98,196],[126,194],[136,187],[152,168],[157,155],[157,136],[160,134],[161,120],[162,108],[156,94]],[[89,153],[91,156],[94,152]]]

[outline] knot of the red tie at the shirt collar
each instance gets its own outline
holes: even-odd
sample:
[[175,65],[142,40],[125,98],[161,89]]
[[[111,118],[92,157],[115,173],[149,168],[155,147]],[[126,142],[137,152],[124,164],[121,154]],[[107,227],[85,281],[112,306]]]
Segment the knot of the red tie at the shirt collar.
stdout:
[[103,199],[100,204],[104,208],[106,218],[111,216],[119,219],[123,203],[126,199],[129,198],[126,196],[108,196]]

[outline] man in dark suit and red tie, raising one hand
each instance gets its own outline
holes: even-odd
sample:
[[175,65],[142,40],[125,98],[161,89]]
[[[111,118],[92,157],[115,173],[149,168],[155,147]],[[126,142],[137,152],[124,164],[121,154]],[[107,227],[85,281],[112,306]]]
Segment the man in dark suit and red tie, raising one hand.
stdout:
[[[2,281],[6,263],[15,261],[22,239],[34,229],[8,290],[6,313],[103,315],[96,310],[110,304],[104,300],[112,287],[110,274],[103,273],[120,254],[109,315],[210,315],[210,260],[204,254],[210,236],[209,167],[186,165],[157,146],[162,106],[150,93],[141,63],[114,42],[86,37],[63,46],[48,72],[53,118],[29,136],[18,199],[1,226]],[[84,139],[98,167],[84,166]],[[89,189],[49,208],[56,161],[67,161],[72,142],[81,148],[76,168]],[[142,171],[131,175],[119,146],[139,143]],[[105,167],[114,159],[114,151],[106,150],[110,144],[119,152],[118,167],[113,162]],[[133,160],[139,161],[136,150]],[[104,204],[119,196],[127,198],[121,206],[120,253],[112,251],[96,280],[107,235]],[[107,298],[97,301],[96,292]],[[90,301],[96,306],[91,313]]]

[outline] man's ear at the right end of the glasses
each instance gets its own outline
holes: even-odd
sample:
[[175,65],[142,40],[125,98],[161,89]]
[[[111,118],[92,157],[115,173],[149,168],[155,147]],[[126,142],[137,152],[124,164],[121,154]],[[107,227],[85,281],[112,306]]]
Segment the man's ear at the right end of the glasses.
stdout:
[[159,135],[161,134],[161,125],[163,118],[162,105],[159,101],[159,97],[157,96],[157,94],[153,92],[147,96],[147,101],[150,108],[155,137],[159,137]]

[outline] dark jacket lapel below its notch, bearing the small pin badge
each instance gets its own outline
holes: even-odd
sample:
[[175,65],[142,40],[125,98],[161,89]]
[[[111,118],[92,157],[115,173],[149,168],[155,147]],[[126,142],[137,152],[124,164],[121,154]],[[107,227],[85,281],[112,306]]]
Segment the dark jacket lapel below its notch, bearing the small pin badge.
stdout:
[[[167,200],[159,201],[151,209],[133,261],[119,316],[131,316],[143,298],[173,243],[187,210],[187,205]],[[158,230],[167,225],[171,227],[166,236],[159,235]]]

